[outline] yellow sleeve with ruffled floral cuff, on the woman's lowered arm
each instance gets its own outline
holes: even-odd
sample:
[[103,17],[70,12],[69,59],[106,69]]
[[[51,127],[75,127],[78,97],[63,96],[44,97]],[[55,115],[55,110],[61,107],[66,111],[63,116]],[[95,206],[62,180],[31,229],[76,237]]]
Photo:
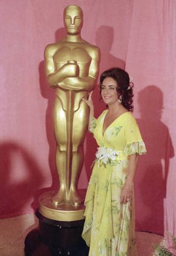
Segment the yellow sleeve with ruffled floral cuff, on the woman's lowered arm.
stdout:
[[131,154],[145,154],[147,152],[138,124],[132,114],[125,125],[125,137],[126,146],[123,150],[124,154],[128,156]]

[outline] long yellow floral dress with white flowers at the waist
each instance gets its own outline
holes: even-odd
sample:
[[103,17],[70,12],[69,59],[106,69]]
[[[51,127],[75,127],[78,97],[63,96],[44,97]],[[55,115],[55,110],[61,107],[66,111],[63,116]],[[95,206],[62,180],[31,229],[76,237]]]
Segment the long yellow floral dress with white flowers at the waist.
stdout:
[[99,145],[85,199],[85,223],[82,237],[90,247],[89,256],[136,256],[134,234],[134,196],[120,204],[127,177],[128,156],[144,154],[133,114],[121,114],[103,134],[108,110],[93,119],[90,131]]

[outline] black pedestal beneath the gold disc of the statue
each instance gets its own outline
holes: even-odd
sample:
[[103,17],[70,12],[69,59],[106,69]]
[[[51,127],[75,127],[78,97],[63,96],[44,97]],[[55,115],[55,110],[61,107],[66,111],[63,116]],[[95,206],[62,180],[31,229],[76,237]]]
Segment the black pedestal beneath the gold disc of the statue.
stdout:
[[36,212],[39,228],[25,238],[26,256],[87,256],[89,247],[81,237],[84,220],[56,221]]

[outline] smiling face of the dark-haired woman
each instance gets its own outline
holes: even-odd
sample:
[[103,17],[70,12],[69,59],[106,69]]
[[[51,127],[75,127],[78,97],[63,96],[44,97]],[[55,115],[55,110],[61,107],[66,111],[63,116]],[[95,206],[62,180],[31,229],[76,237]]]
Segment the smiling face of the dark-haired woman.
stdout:
[[112,105],[118,102],[117,82],[113,78],[105,78],[101,85],[101,97],[106,105]]

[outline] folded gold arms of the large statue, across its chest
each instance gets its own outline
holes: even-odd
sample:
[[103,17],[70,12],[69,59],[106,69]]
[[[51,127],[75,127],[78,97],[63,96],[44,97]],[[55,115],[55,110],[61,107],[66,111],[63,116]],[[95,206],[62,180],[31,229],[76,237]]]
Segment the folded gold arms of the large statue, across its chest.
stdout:
[[[85,43],[86,46],[86,43]],[[55,62],[53,60],[53,55],[57,52],[55,46],[48,45],[45,49],[45,59],[46,59],[46,75],[48,84],[57,88],[67,90],[93,90],[94,81],[97,78],[97,73],[99,71],[99,48],[96,46],[86,47],[87,53],[90,55],[91,62],[87,63],[86,70],[84,72],[89,72],[87,76],[80,76],[84,74],[80,73],[79,63],[74,59],[67,59],[67,62],[63,64],[59,69],[55,69]],[[82,49],[82,48],[81,48]],[[73,49],[74,50],[74,49]],[[80,66],[82,63],[80,63]],[[83,73],[83,72],[82,72]]]

